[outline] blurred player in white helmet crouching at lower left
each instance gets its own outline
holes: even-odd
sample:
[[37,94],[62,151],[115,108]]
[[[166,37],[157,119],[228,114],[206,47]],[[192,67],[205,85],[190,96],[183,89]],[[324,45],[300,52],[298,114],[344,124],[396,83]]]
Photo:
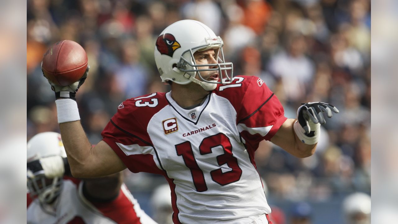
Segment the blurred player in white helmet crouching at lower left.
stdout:
[[122,174],[78,180],[70,173],[60,134],[27,143],[27,223],[156,224],[123,184]]

